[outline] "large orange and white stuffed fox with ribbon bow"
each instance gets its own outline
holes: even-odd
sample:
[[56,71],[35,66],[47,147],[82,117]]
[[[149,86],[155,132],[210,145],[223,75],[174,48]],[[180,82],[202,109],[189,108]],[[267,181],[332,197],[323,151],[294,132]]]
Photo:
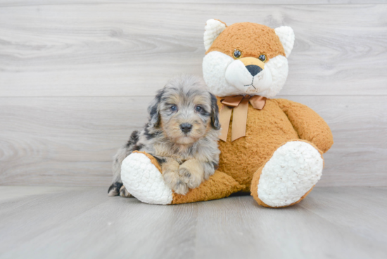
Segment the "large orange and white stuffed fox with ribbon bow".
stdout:
[[177,204],[250,191],[261,206],[300,202],[322,175],[322,154],[333,137],[312,109],[273,99],[288,75],[291,27],[255,23],[227,26],[208,20],[203,77],[220,106],[219,168],[198,188],[175,194],[163,182],[156,158],[134,152],[122,163],[122,182],[145,203]]

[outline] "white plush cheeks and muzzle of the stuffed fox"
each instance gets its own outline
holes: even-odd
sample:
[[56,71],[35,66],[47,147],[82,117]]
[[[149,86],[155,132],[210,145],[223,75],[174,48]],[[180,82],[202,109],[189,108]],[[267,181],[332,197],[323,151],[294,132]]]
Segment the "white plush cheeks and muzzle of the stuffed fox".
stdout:
[[[260,95],[272,98],[281,91],[288,77],[288,60],[284,56],[270,58],[265,69],[253,76],[239,60],[220,51],[211,51],[203,58],[203,78],[217,96]],[[245,85],[251,84],[253,86]]]

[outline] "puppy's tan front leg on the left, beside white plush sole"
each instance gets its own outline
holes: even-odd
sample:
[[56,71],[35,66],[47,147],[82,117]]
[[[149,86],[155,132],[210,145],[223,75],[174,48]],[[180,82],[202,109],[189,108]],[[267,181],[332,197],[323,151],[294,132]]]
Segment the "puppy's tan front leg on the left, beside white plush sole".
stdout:
[[189,188],[186,183],[182,181],[179,175],[179,163],[173,158],[165,158],[165,162],[161,165],[163,171],[164,182],[170,189],[177,194],[186,194]]

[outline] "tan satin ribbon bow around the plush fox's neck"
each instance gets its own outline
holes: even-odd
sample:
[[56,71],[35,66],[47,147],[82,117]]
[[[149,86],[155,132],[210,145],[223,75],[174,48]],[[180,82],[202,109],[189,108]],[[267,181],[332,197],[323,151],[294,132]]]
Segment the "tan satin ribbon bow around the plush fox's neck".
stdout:
[[234,141],[235,139],[246,136],[248,103],[250,102],[253,108],[262,110],[266,104],[266,97],[259,95],[236,95],[227,96],[224,99],[221,99],[220,102],[223,104],[220,109],[220,125],[222,125],[220,139],[222,139],[222,141],[227,141],[227,133],[229,132],[229,124],[231,120],[231,110],[234,109],[231,126],[231,141]]

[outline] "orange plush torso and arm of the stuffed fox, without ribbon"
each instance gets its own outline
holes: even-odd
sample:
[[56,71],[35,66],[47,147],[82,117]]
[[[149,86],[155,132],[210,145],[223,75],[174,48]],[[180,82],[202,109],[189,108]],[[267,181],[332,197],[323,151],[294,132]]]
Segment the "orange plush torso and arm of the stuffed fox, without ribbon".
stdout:
[[[221,106],[220,102],[218,104]],[[288,118],[286,113],[293,117]],[[323,152],[333,144],[331,130],[315,111],[284,99],[268,99],[262,110],[254,109],[249,104],[246,137],[231,142],[231,125],[232,115],[227,141],[220,141],[219,170],[244,185],[243,191],[250,191],[255,171],[282,144],[305,139],[305,136],[309,137],[305,140],[315,144],[318,149],[321,147]]]

